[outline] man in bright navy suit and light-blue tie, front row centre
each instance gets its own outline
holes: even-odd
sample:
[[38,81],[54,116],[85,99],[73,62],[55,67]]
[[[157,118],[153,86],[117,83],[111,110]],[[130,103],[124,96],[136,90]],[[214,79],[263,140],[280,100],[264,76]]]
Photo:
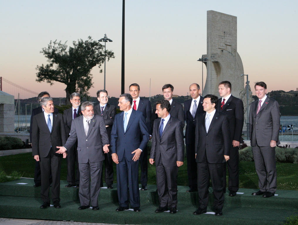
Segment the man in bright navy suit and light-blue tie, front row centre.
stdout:
[[130,201],[134,211],[140,212],[138,160],[147,145],[149,133],[145,116],[142,112],[133,110],[131,105],[130,94],[120,95],[118,106],[124,112],[115,116],[111,132],[112,159],[117,164],[119,208],[116,211],[127,210]]

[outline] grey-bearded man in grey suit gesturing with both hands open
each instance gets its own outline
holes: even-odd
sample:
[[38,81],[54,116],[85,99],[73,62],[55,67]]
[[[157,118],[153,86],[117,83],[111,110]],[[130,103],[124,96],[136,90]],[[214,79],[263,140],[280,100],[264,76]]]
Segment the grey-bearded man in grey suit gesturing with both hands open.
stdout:
[[[72,120],[70,135],[66,143],[57,146],[63,153],[78,142],[77,153],[80,170],[79,210],[89,208],[99,210],[98,195],[100,192],[100,176],[103,167],[104,153],[108,153],[109,140],[103,117],[94,115],[93,103],[83,102],[81,106],[83,116]],[[90,185],[91,179],[91,185]]]

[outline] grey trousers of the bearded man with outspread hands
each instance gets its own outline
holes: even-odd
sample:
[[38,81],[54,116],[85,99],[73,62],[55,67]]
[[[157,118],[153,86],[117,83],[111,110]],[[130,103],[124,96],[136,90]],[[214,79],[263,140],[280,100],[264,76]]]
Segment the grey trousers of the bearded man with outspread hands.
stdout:
[[[79,163],[80,169],[80,204],[88,206],[98,206],[98,195],[100,192],[100,177],[103,161]],[[91,184],[90,184],[91,178]],[[91,187],[90,187],[91,186]]]

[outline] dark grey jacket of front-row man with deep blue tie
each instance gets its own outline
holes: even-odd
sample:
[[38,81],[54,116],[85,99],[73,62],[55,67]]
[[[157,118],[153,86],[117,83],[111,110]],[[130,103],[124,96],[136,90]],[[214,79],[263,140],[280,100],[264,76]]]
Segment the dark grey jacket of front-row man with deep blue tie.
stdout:
[[167,124],[164,124],[161,138],[160,122],[161,118],[154,121],[150,158],[155,159],[156,165],[162,158],[165,167],[177,166],[176,161],[183,162],[184,159],[183,122],[171,116]]

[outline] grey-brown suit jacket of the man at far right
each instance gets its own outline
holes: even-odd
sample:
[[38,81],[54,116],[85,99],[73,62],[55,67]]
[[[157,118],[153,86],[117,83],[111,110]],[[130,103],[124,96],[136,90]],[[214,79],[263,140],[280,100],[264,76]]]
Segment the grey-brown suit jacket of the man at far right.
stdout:
[[279,104],[267,96],[257,114],[259,100],[252,102],[249,110],[249,137],[251,146],[270,146],[270,141],[278,140],[280,130]]

